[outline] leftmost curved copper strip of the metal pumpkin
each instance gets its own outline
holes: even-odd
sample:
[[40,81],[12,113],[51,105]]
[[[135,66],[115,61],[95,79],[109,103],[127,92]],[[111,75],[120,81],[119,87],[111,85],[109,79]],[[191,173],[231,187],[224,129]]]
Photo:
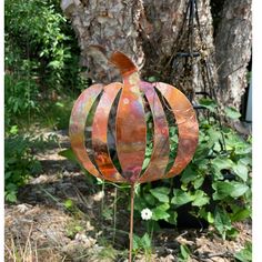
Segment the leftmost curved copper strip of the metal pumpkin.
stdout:
[[103,84],[93,84],[81,93],[73,105],[69,123],[69,137],[73,152],[83,168],[100,179],[102,179],[102,175],[93,165],[87,153],[84,145],[84,127],[89,111],[102,89]]

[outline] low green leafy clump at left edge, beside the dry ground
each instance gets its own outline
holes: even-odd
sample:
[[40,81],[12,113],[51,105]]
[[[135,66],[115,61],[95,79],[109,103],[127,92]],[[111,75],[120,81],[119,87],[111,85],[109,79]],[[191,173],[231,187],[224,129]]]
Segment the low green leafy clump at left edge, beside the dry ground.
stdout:
[[17,134],[4,141],[4,198],[9,202],[16,202],[18,189],[41,170],[40,162],[32,155],[31,142],[29,137]]

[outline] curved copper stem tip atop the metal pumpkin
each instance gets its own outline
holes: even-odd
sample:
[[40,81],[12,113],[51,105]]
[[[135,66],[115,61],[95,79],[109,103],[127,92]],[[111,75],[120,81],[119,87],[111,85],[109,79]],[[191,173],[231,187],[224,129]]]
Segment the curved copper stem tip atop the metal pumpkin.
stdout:
[[133,72],[138,72],[138,68],[135,67],[133,61],[124,53],[121,53],[119,51],[113,52],[109,61],[120,70],[123,77]]

